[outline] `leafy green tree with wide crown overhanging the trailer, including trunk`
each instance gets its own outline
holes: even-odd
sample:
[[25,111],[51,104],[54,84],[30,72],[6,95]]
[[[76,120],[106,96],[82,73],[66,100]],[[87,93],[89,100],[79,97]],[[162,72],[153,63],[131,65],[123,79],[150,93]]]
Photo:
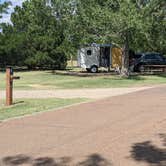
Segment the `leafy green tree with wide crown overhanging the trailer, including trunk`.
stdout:
[[[74,19],[77,43],[116,43],[123,48],[122,75],[128,75],[129,48],[145,35],[143,7],[132,0],[78,0]],[[79,42],[78,42],[79,41]]]

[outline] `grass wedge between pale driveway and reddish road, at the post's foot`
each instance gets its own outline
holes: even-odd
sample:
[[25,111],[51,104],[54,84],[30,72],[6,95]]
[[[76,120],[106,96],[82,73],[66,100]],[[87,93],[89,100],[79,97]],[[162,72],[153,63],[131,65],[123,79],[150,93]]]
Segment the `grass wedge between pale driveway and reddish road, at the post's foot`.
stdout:
[[1,101],[0,120],[29,115],[36,112],[56,110],[57,108],[89,101],[88,99],[22,99],[16,100],[15,104],[6,107]]

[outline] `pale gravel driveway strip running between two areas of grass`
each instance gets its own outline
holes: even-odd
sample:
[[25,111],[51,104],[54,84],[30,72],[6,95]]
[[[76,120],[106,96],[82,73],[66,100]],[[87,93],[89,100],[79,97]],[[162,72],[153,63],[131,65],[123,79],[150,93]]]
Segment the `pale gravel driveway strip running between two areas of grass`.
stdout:
[[[102,99],[149,89],[135,88],[100,88],[100,89],[65,89],[65,90],[15,90],[14,98],[90,98]],[[5,98],[5,91],[0,91],[0,99]]]

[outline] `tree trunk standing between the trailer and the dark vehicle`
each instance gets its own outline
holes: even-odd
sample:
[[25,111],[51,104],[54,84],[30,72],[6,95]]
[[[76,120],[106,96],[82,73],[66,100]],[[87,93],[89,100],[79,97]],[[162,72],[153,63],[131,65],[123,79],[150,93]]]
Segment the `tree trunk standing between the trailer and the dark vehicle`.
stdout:
[[125,36],[125,43],[122,50],[122,69],[121,74],[122,77],[129,77],[129,40],[128,35]]

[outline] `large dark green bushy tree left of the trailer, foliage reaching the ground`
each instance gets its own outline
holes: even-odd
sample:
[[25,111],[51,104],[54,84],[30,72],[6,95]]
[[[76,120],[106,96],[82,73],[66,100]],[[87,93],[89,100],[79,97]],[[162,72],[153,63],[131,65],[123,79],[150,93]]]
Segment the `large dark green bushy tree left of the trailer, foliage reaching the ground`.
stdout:
[[[3,35],[6,47],[11,48],[7,54],[12,54],[12,64],[18,65],[19,59],[19,65],[29,68],[66,67],[67,58],[60,49],[63,29],[45,0],[25,1],[22,7],[17,6],[11,22],[13,25],[3,26]],[[12,42],[15,44],[11,46]]]

